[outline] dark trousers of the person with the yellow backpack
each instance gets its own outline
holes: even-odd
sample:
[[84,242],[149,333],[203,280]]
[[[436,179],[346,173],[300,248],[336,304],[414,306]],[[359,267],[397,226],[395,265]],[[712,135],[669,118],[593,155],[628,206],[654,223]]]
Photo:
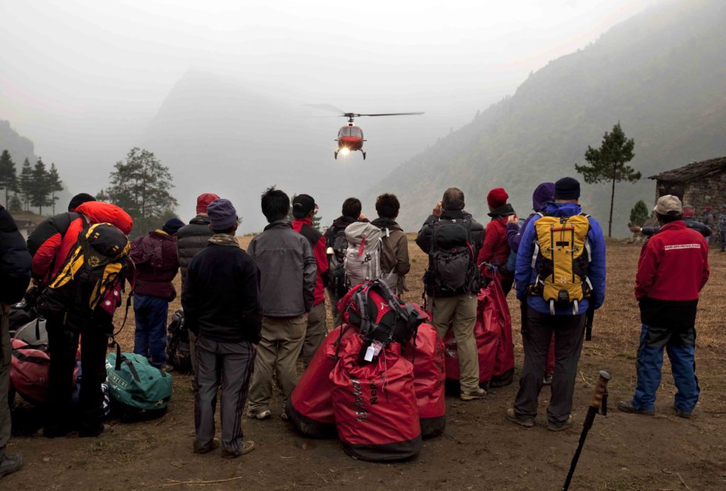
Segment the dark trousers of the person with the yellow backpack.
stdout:
[[550,315],[526,308],[526,321],[522,323],[524,366],[514,401],[514,412],[518,416],[537,416],[537,399],[542,390],[544,366],[554,332],[555,374],[547,419],[555,424],[567,421],[572,410],[584,329],[585,314]]

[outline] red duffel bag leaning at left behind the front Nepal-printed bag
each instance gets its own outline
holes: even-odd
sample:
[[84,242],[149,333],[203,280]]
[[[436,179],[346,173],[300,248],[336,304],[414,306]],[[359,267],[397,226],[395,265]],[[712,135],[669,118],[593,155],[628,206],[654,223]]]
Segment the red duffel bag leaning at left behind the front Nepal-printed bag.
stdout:
[[290,395],[290,402],[285,407],[287,418],[306,437],[335,437],[335,415],[330,395],[333,382],[330,381],[330,372],[335,368],[336,352],[342,355],[343,347],[355,334],[356,331],[346,325],[330,331]]

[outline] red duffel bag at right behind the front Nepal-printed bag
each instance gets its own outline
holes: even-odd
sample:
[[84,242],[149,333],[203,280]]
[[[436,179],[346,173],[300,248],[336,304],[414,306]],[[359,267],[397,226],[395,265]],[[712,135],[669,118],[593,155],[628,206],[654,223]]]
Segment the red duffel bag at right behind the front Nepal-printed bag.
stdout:
[[[412,352],[414,390],[423,438],[438,437],[446,427],[444,342],[431,324],[421,324]],[[408,358],[408,356],[407,356]]]

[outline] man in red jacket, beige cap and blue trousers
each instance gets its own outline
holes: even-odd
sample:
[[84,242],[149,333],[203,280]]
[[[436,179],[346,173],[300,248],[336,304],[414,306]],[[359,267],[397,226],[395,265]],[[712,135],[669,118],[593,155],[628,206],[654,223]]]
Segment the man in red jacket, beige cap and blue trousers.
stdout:
[[668,352],[678,392],[677,416],[690,418],[698,402],[696,378],[696,308],[709,279],[709,248],[698,232],[686,228],[680,199],[670,194],[654,208],[661,229],[640,251],[635,298],[640,302],[637,384],[632,401],[620,401],[626,413],[655,414],[661,384],[663,350]]

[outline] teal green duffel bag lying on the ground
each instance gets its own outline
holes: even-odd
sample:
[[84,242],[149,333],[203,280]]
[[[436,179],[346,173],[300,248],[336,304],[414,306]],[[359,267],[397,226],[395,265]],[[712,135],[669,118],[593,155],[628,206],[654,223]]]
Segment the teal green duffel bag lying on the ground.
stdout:
[[106,357],[111,412],[122,421],[144,421],[166,413],[171,399],[171,374],[145,356],[111,352]]

